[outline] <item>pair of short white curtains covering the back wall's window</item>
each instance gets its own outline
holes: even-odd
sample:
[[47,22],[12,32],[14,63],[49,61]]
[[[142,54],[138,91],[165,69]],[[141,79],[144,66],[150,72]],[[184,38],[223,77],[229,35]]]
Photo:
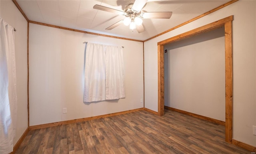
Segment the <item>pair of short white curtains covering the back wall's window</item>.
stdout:
[[87,43],[84,68],[84,102],[125,97],[122,47]]

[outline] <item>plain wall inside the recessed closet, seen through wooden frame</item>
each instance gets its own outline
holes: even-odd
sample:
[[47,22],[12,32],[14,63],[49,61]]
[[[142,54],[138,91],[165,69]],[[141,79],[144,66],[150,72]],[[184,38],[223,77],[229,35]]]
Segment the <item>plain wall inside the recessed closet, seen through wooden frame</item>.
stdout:
[[225,121],[224,28],[164,49],[164,105]]

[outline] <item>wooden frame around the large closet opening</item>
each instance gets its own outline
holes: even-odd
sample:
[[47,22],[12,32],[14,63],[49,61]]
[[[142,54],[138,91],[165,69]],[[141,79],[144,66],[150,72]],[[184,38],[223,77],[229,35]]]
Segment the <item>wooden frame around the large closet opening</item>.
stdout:
[[232,115],[233,115],[233,75],[232,75],[232,21],[233,16],[229,16],[190,30],[172,38],[165,39],[157,43],[158,45],[158,115],[164,115],[164,45],[174,41],[180,41],[201,33],[209,32],[224,26],[225,28],[225,140],[232,143]]

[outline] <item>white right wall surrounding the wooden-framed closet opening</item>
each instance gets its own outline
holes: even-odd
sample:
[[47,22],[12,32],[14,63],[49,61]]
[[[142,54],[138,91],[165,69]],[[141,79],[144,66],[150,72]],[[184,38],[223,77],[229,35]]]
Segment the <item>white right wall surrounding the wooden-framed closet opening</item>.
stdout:
[[234,15],[233,138],[256,146],[256,1],[240,0],[162,36],[144,42],[145,107],[158,111],[157,42]]

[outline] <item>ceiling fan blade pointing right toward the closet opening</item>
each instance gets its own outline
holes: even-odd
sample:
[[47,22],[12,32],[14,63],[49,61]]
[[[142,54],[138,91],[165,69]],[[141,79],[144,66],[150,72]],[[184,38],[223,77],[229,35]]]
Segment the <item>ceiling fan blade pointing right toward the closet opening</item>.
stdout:
[[170,19],[172,12],[143,12],[140,17],[143,19]]

